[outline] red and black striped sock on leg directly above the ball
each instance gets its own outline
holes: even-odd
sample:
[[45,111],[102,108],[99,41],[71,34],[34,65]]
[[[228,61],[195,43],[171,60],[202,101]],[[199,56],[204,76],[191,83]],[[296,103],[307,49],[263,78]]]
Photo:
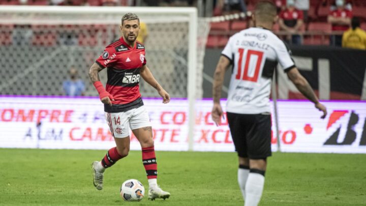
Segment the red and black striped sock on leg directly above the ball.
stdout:
[[147,179],[156,179],[158,176],[158,165],[156,162],[154,146],[142,148],[142,163],[146,170]]

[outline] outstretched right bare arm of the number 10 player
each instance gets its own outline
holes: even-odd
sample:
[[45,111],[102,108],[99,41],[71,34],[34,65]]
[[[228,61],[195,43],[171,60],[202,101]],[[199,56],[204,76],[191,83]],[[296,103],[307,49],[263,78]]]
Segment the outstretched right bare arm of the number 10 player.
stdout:
[[291,69],[289,72],[287,72],[287,76],[295,84],[296,88],[301,94],[303,94],[310,101],[314,102],[317,109],[323,111],[321,118],[324,119],[327,114],[326,107],[319,102],[309,82],[300,74],[298,69]]

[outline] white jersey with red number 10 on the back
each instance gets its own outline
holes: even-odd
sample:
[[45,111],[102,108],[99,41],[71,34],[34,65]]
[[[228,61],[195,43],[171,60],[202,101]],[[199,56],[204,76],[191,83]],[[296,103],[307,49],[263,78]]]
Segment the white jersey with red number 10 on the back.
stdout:
[[271,78],[276,66],[280,63],[285,71],[294,67],[284,42],[269,30],[252,27],[230,37],[222,55],[233,64],[227,111],[270,112]]

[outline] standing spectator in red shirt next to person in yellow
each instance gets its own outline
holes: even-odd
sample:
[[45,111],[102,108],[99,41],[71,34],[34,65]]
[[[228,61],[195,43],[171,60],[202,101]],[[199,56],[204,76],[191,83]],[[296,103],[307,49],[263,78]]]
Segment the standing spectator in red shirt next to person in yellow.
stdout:
[[[337,10],[330,11],[328,22],[332,24],[333,32],[342,32],[348,30],[351,23],[352,13],[344,6],[343,0],[335,0]],[[330,36],[330,45],[342,46],[342,34]]]

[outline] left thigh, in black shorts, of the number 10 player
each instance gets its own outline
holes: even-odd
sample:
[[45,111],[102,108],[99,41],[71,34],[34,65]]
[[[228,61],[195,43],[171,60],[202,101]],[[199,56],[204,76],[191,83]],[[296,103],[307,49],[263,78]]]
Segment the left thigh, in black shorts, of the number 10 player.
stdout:
[[227,119],[231,137],[234,142],[235,151],[239,157],[246,158],[247,154],[247,138],[246,138],[246,124],[242,120],[242,114],[227,112]]

